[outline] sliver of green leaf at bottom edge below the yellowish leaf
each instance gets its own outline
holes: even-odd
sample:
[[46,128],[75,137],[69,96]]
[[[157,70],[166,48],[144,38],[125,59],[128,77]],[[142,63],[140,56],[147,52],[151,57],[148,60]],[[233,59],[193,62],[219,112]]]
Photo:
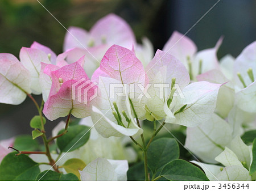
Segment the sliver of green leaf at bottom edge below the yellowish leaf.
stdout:
[[68,173],[66,175],[63,175],[63,173],[57,173],[54,171],[44,171],[41,172],[38,177],[36,177],[36,180],[60,180],[60,181],[65,181],[65,180],[79,180],[78,177],[72,173]]

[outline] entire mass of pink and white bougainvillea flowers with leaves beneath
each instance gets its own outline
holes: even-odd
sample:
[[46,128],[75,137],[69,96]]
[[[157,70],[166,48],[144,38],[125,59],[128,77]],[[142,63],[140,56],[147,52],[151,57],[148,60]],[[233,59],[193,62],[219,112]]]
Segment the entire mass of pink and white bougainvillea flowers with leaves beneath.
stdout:
[[[134,142],[143,151],[146,180],[255,180],[256,42],[220,61],[222,38],[197,52],[175,31],[155,56],[150,41],[142,43],[124,20],[109,14],[89,32],[70,27],[58,56],[36,42],[20,49],[19,60],[0,53],[0,103],[17,105],[29,96],[39,111],[31,120],[32,137],[42,137],[46,146],[44,152],[19,151],[15,138],[1,141],[0,179],[19,180],[23,172],[6,172],[6,165],[24,160],[31,168],[40,164],[32,180],[52,180],[55,173],[64,173],[60,180],[127,180],[134,173],[128,163],[142,159]],[[41,107],[32,94],[42,94]],[[50,121],[67,116],[48,139],[43,114]],[[82,120],[77,124],[71,116]],[[204,172],[179,159],[174,138],[153,141],[165,124],[185,136],[185,148],[197,159],[191,162]],[[8,154],[9,146],[18,157]]]

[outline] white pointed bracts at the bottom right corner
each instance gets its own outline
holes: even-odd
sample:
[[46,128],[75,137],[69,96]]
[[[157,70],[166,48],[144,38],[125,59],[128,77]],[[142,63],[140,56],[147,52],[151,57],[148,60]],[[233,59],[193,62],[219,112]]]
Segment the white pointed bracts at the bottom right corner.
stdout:
[[[222,139],[225,139],[225,137]],[[217,141],[217,139],[215,140]],[[220,140],[221,138],[218,138],[218,141]],[[198,140],[198,142],[201,142],[201,140]],[[212,150],[209,148],[208,155],[211,152]],[[214,163],[221,163],[224,167],[196,161],[192,161],[192,163],[203,168],[209,180],[251,180],[248,171],[251,165],[251,146],[245,145],[239,136],[234,137],[226,147],[222,147],[222,152],[216,156],[215,161]]]

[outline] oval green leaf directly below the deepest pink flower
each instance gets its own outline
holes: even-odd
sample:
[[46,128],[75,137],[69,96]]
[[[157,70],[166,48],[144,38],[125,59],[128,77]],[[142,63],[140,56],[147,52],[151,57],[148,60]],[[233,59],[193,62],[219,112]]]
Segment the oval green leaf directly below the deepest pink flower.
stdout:
[[[68,133],[57,138],[57,146],[62,152],[71,152],[83,146],[89,139],[90,128],[85,125],[69,126]],[[63,133],[64,129],[59,132]]]

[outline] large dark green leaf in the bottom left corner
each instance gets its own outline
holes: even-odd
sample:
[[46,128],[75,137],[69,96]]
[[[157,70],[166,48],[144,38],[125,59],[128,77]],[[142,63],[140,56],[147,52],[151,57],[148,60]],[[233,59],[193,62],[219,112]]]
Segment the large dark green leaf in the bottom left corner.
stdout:
[[0,180],[35,180],[40,173],[39,164],[27,155],[11,152],[0,165]]

